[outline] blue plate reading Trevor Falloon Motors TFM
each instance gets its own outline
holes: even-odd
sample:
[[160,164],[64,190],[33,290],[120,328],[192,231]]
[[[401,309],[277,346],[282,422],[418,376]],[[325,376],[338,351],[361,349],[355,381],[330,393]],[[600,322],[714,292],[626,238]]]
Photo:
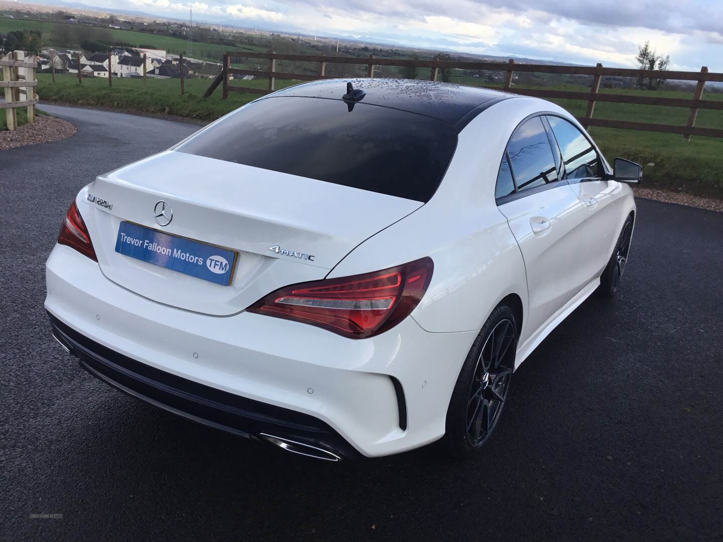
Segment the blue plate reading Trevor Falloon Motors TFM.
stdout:
[[224,286],[231,284],[237,254],[125,220],[118,228],[116,252]]

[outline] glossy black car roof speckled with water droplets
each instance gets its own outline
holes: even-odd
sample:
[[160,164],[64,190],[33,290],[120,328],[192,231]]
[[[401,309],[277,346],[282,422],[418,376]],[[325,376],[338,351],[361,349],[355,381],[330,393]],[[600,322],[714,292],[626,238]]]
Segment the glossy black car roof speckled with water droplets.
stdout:
[[516,96],[487,88],[419,79],[321,79],[279,90],[269,98],[298,96],[341,100],[348,82],[365,93],[358,103],[431,116],[452,124],[457,131],[489,106]]

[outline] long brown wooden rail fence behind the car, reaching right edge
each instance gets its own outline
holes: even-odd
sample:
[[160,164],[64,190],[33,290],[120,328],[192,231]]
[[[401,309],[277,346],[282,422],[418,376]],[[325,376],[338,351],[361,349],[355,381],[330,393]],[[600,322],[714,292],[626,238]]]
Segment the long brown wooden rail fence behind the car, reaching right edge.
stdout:
[[[268,60],[268,70],[240,69],[234,68],[232,59],[244,57],[246,59]],[[276,71],[276,61],[298,61],[318,64],[317,73],[286,73]],[[518,64],[512,59],[507,63],[502,62],[474,62],[474,61],[445,61],[445,60],[411,60],[411,59],[381,59],[375,56],[354,57],[354,56],[324,56],[324,55],[301,55],[288,53],[253,53],[247,51],[227,51],[223,55],[223,69],[221,74],[214,79],[206,91],[204,98],[208,98],[213,91],[222,85],[223,98],[228,93],[273,93],[275,79],[294,79],[297,81],[315,81],[317,79],[336,79],[326,75],[328,64],[359,64],[367,65],[367,77],[374,77],[375,66],[399,66],[414,68],[429,68],[429,79],[437,80],[440,69],[465,69],[465,70],[487,70],[492,72],[505,72],[505,82],[502,90],[508,93],[534,96],[536,98],[555,98],[565,100],[583,100],[587,102],[585,116],[577,117],[578,121],[589,128],[590,126],[601,126],[604,128],[622,128],[629,130],[644,130],[649,132],[666,132],[669,134],[683,134],[685,139],[690,136],[723,137],[723,128],[703,128],[696,126],[696,117],[701,109],[723,110],[723,100],[703,100],[703,88],[706,82],[723,82],[723,73],[712,73],[706,66],[700,72],[679,72],[649,69],[628,69],[628,68],[605,68],[602,64],[597,66],[560,66],[553,64]],[[537,72],[545,74],[572,74],[592,76],[592,84],[589,92],[573,92],[568,90],[547,90],[544,88],[520,88],[513,85],[515,72]],[[252,88],[239,85],[231,85],[231,75],[252,75],[254,77],[268,77],[268,88]],[[696,81],[696,91],[692,99],[667,98],[658,96],[600,93],[600,83],[603,77],[634,77],[639,79],[675,79],[683,81]],[[668,106],[688,108],[688,122],[683,125],[656,124],[636,121],[620,121],[612,119],[594,118],[595,104],[597,102],[612,103],[634,103],[641,106]]]

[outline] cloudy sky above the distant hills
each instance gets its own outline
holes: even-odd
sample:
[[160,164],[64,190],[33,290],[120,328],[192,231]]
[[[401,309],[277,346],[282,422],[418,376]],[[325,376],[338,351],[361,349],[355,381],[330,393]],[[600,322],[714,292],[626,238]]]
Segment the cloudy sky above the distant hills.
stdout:
[[636,66],[649,40],[669,69],[723,72],[723,0],[80,0],[94,7],[575,64]]

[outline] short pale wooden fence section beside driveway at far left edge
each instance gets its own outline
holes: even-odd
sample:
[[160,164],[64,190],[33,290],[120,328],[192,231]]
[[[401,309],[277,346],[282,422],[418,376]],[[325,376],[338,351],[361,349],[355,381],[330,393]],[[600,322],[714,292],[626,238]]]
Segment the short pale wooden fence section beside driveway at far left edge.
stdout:
[[23,51],[14,51],[0,58],[0,66],[0,88],[5,91],[5,101],[0,101],[0,110],[5,110],[7,129],[17,128],[15,110],[20,107],[27,108],[27,121],[35,122],[35,104],[38,103],[38,96],[35,95],[35,87],[38,85],[35,79],[35,56],[26,58]]

